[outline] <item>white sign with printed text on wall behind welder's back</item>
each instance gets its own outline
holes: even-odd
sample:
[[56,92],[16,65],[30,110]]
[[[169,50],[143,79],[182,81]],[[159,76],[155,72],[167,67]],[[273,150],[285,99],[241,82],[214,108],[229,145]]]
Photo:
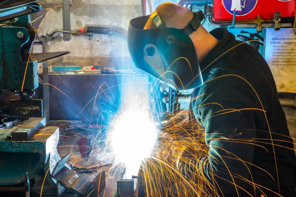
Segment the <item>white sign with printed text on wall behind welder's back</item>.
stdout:
[[293,28],[266,29],[265,60],[278,92],[296,93],[296,35]]

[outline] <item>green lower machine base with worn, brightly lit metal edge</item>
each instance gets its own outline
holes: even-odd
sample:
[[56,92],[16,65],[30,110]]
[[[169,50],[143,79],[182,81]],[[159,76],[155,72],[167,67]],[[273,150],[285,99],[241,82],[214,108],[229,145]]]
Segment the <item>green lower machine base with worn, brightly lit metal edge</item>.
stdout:
[[[30,124],[26,127],[30,127]],[[60,160],[57,152],[59,128],[43,127],[27,141],[6,140],[11,130],[2,130],[1,133],[0,191],[1,187],[24,184],[25,175],[28,171],[29,179],[35,179],[35,184],[32,186],[34,187],[33,190],[38,193],[46,171],[49,169],[48,173],[51,173],[55,164]],[[38,180],[41,182],[40,184],[37,183]],[[54,184],[50,177],[48,180]],[[47,184],[50,184],[49,181],[47,181]]]

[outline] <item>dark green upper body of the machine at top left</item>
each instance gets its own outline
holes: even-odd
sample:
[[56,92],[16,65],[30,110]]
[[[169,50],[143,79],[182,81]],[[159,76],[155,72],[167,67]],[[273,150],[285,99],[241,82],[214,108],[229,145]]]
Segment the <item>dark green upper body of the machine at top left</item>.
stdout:
[[29,0],[0,3],[1,89],[32,97],[38,87],[37,61],[29,60],[37,32],[31,28],[29,14],[40,10],[40,4]]

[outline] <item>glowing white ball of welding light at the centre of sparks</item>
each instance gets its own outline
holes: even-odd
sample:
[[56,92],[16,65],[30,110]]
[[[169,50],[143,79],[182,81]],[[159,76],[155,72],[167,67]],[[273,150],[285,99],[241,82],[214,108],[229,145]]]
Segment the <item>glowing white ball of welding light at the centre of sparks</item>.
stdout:
[[112,122],[111,145],[117,162],[139,165],[149,157],[157,138],[157,129],[148,110],[129,107]]

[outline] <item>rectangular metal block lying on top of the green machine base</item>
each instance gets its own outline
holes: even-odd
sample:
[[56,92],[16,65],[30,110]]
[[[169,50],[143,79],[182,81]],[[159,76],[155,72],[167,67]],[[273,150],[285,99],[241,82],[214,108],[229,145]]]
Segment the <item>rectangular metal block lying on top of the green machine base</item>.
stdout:
[[45,118],[30,118],[20,127],[15,127],[7,140],[27,141],[30,140],[39,130],[45,126]]

